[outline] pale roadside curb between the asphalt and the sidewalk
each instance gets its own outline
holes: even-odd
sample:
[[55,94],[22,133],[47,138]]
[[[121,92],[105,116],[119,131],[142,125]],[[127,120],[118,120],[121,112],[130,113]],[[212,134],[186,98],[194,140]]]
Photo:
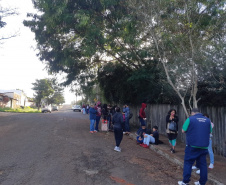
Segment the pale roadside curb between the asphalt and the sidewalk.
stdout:
[[[130,133],[129,137],[131,137],[133,140],[136,140],[136,135]],[[162,151],[159,147],[156,147],[158,145],[149,145],[149,149],[155,151],[156,153],[158,153],[159,155],[163,156],[164,158],[166,158],[167,160],[169,160],[170,162],[180,166],[182,169],[184,167],[184,161],[168,155],[167,153],[165,153],[164,151]],[[195,172],[192,172],[193,175],[199,177],[199,175],[197,175]],[[208,181],[210,181],[212,184],[214,185],[224,185],[224,183],[219,182],[218,180],[216,180],[216,177],[214,177],[211,173],[208,173]]]

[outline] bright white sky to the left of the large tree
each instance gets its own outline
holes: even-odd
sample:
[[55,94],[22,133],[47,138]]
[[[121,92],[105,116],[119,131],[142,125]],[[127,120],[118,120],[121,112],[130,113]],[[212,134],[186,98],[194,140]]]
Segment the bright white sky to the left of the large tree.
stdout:
[[[32,83],[36,79],[51,78],[45,70],[45,65],[36,56],[35,35],[29,28],[23,26],[27,13],[34,13],[32,0],[0,0],[5,8],[16,8],[19,15],[3,19],[7,23],[0,29],[0,37],[19,32],[17,37],[4,40],[0,44],[0,89],[21,89],[28,97],[33,97]],[[64,97],[67,104],[75,100],[69,88],[65,88]]]

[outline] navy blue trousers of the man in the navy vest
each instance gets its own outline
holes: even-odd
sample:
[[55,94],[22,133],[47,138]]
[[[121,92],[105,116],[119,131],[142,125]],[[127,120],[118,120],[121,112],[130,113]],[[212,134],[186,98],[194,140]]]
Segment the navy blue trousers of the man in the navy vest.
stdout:
[[208,149],[201,149],[201,148],[186,146],[185,156],[184,156],[184,172],[183,172],[184,183],[189,183],[190,177],[191,177],[192,165],[196,161],[200,169],[199,183],[201,185],[206,184],[206,181],[207,181],[206,155],[207,154],[208,154]]

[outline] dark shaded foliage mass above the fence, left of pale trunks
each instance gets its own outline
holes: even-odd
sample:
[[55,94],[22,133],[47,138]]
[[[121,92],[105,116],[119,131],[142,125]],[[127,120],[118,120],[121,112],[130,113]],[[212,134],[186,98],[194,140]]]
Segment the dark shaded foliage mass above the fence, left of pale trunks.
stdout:
[[178,98],[155,61],[138,70],[127,70],[119,63],[109,63],[98,73],[98,81],[110,103],[170,103]]

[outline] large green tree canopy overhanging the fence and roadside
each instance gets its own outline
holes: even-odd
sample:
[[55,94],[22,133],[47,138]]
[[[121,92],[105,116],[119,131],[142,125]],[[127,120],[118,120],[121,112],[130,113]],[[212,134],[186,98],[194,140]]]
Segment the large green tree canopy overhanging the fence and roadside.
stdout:
[[225,67],[225,1],[33,2],[41,13],[24,24],[35,33],[40,59],[49,72],[67,74],[64,85],[76,81],[87,94],[97,83],[109,101],[179,97],[186,109],[203,98],[205,74]]

